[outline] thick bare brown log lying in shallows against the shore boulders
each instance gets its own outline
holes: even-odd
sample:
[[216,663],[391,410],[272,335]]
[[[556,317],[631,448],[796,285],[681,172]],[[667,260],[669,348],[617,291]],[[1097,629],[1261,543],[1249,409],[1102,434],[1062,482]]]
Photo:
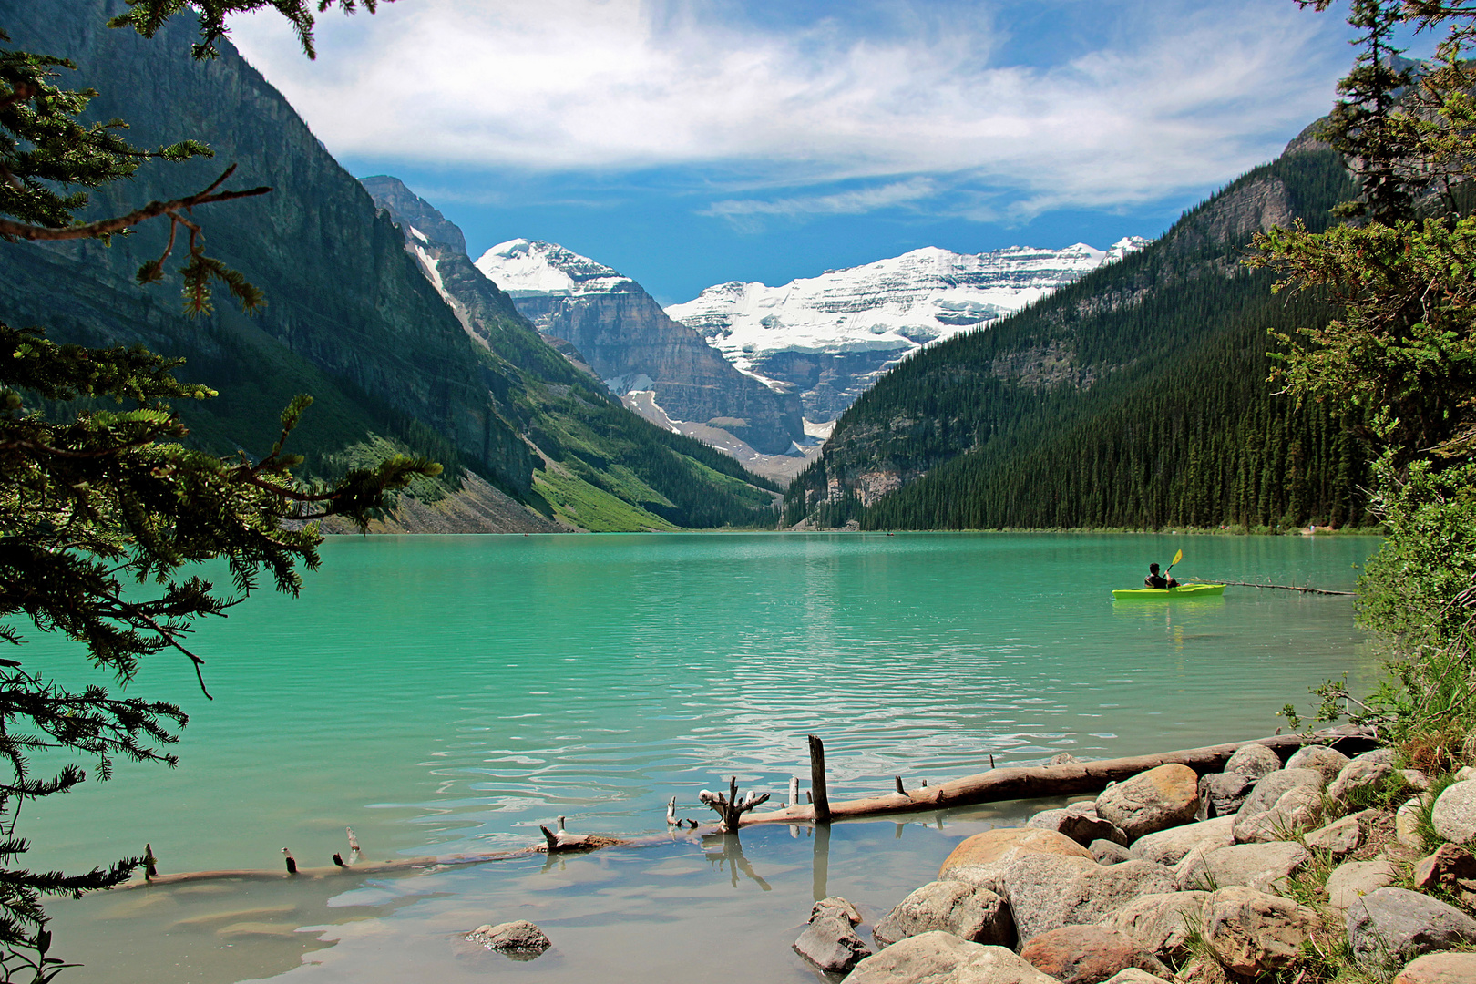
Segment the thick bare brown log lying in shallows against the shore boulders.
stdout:
[[1274,735],[1246,742],[1228,742],[1188,748],[1184,751],[1159,752],[1154,755],[1131,755],[1128,758],[1106,758],[1101,761],[1073,761],[1061,766],[1007,766],[976,776],[965,776],[936,786],[922,786],[909,792],[890,792],[865,800],[830,803],[827,819],[819,819],[818,808],[793,805],[784,810],[750,813],[742,817],[744,826],[753,823],[804,823],[843,820],[855,817],[886,816],[892,813],[915,813],[918,810],[946,810],[1001,800],[1041,800],[1080,792],[1101,792],[1107,783],[1131,779],[1139,772],[1157,769],[1169,763],[1188,766],[1199,775],[1222,772],[1237,748],[1244,745],[1266,745],[1283,758],[1302,745],[1339,745],[1348,751],[1373,748],[1376,742],[1367,732],[1356,729],[1333,729],[1306,738],[1303,735]]

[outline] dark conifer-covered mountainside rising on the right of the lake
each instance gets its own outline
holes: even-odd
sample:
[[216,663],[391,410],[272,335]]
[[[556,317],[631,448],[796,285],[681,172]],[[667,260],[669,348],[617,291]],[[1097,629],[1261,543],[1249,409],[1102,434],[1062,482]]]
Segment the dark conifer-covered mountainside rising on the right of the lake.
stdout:
[[920,353],[841,417],[785,524],[1364,522],[1365,451],[1346,422],[1266,384],[1268,329],[1327,314],[1241,266],[1255,232],[1325,227],[1352,193],[1339,158],[1299,139],[1153,246]]

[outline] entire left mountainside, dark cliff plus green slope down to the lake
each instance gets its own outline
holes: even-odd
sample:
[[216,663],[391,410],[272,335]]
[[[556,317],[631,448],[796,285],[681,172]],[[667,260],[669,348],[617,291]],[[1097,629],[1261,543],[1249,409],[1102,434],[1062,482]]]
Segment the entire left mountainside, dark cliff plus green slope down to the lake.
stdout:
[[[207,249],[266,292],[246,317],[221,301],[180,310],[179,279],[143,288],[168,224],[96,242],[0,243],[0,317],[58,341],[143,344],[186,358],[180,378],[220,397],[180,407],[187,441],[215,453],[264,453],[277,415],[314,397],[292,435],[310,475],[329,478],[387,450],[446,465],[419,482],[415,530],[642,530],[772,522],[772,494],[731,459],[651,426],[573,370],[511,305],[471,333],[391,218],[229,44],[195,62],[177,18],[155,40],[108,30],[123,0],[0,0],[12,43],[71,58],[58,83],[93,87],[93,119],[130,121],[128,140],[199,139],[214,159],[146,162],[93,196],[90,215],[123,214],[208,186],[270,195],[202,208]],[[472,270],[475,274],[475,270]],[[503,298],[505,301],[506,298]],[[551,435],[539,444],[534,435]],[[452,505],[462,503],[465,507]],[[450,512],[447,512],[450,510]],[[452,516],[452,512],[455,516]]]

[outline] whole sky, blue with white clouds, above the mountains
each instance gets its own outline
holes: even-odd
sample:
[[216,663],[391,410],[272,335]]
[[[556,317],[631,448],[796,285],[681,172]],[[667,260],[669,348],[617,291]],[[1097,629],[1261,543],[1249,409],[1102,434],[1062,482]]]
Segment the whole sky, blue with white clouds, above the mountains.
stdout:
[[[663,302],[918,246],[1157,236],[1334,99],[1293,0],[399,0],[233,40],[472,257],[548,239]],[[1415,44],[1421,53],[1427,44]]]

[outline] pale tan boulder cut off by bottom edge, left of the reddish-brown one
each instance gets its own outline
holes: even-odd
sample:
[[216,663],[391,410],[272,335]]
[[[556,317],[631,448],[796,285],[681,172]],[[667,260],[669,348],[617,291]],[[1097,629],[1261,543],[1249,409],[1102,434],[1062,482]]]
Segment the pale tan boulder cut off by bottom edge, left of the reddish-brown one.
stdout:
[[934,929],[856,965],[846,984],[1060,984],[1004,947]]

